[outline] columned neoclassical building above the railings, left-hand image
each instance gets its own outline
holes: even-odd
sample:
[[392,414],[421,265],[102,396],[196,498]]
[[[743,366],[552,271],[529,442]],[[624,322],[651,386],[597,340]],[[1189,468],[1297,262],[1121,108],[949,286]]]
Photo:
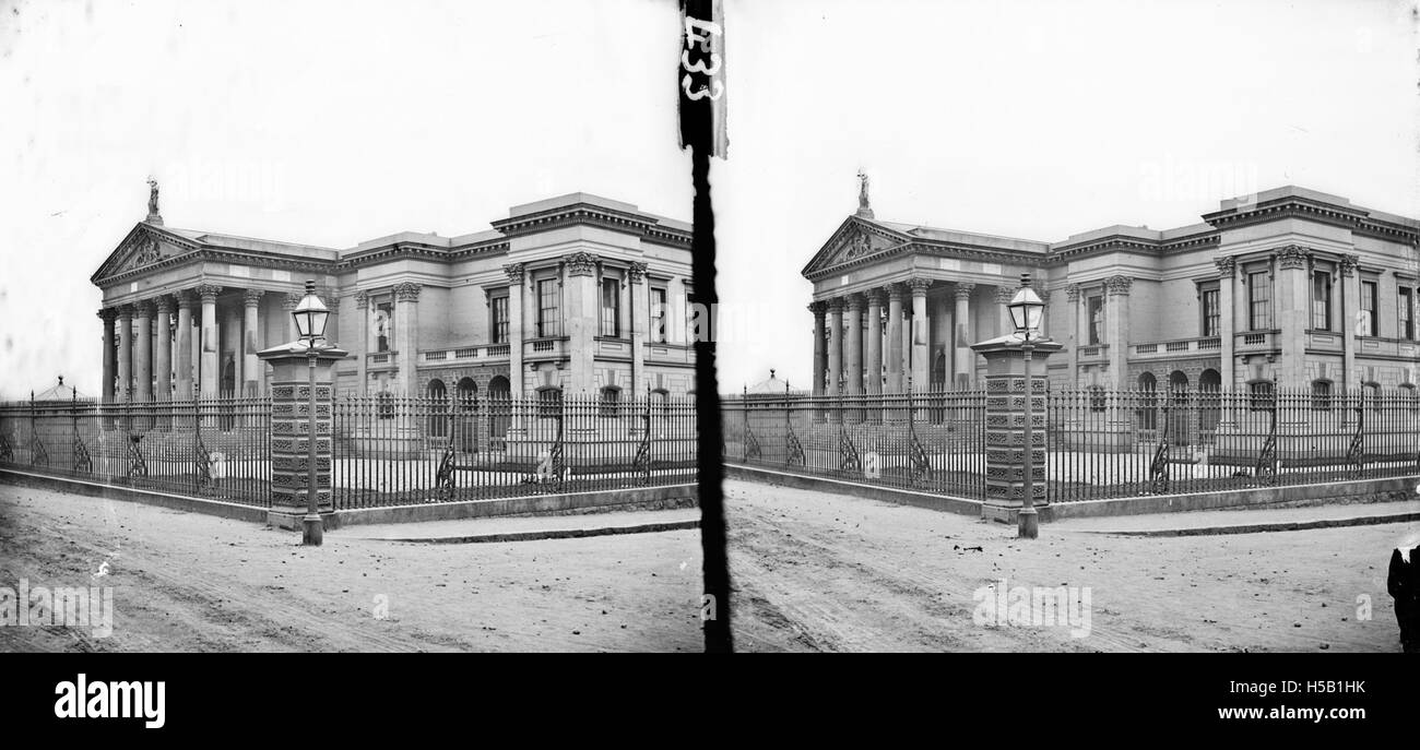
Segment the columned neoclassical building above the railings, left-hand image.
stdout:
[[261,395],[257,352],[293,341],[307,278],[327,338],[352,352],[338,392],[548,389],[683,396],[690,224],[574,193],[514,206],[487,232],[405,232],[348,249],[139,222],[91,281],[104,290],[105,401]]

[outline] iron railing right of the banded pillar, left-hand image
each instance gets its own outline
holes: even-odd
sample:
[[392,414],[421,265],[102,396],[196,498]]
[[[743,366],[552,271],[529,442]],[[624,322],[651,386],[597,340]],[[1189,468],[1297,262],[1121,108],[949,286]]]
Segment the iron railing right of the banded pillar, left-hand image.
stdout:
[[690,399],[339,396],[334,430],[337,510],[696,480]]

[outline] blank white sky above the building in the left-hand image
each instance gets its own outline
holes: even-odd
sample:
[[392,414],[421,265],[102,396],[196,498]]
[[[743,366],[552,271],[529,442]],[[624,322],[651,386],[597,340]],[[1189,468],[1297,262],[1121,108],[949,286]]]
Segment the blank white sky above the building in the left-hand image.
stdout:
[[0,1],[0,398],[98,391],[149,176],[168,226],[327,247],[571,192],[690,220],[679,44],[665,0]]

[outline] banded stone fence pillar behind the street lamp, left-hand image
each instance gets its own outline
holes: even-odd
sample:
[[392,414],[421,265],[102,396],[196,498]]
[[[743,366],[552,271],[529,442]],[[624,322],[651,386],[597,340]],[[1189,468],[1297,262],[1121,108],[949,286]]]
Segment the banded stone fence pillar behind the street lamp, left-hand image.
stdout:
[[[311,386],[305,348],[294,342],[273,347],[257,357],[271,365],[271,507],[267,523],[301,528],[310,501]],[[348,357],[324,349],[315,364],[315,499],[322,520],[332,513],[331,456],[335,362]]]

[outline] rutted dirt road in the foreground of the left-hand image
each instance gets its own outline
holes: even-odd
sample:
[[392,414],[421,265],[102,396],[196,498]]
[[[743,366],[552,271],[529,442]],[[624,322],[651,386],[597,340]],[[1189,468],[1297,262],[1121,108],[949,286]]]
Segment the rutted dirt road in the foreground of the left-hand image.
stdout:
[[0,587],[20,578],[114,587],[114,632],[0,626],[0,651],[703,648],[694,530],[449,545],[335,531],[304,548],[293,531],[0,484]]

